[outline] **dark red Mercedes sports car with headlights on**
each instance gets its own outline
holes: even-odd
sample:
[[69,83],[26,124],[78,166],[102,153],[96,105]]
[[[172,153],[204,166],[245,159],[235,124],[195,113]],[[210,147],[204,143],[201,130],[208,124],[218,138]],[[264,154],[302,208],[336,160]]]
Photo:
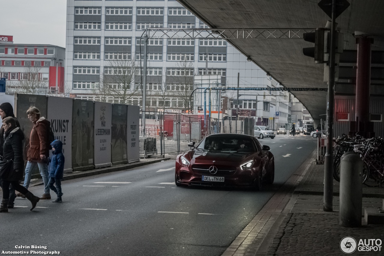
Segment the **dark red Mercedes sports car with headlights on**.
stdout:
[[275,158],[269,146],[250,135],[233,133],[205,137],[176,158],[177,186],[200,185],[262,188],[275,179]]

